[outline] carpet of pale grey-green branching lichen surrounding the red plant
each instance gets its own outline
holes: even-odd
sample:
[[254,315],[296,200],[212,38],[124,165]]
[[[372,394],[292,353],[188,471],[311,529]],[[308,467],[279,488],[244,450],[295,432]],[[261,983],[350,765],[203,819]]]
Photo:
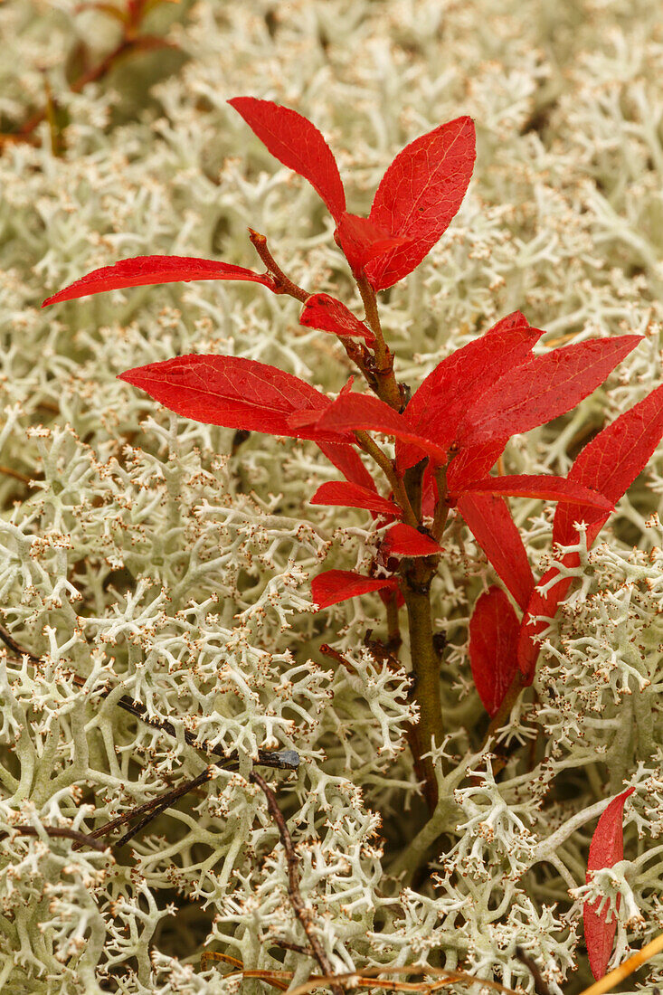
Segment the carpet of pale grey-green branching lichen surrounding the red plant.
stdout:
[[[312,610],[324,561],[367,567],[370,516],[308,503],[336,476],[312,443],[187,421],[115,379],[220,352],[335,393],[342,348],[298,323],[297,301],[243,285],[39,303],[127,256],[255,266],[250,224],[300,286],[360,312],[322,203],[226,100],[296,107],[351,150],[357,213],[407,141],[471,114],[468,195],[381,296],[385,338],[415,388],[516,308],[546,329],[538,351],[645,335],[503,458],[506,473],[565,474],[663,379],[658,5],[165,4],[148,16],[177,58],[134,53],[77,93],[72,66],[119,30],[92,6],[0,4],[0,989],[253,995],[273,989],[242,969],[289,972],[282,989],[320,973],[255,764],[334,972],[429,964],[534,992],[520,948],[552,995],[580,991],[587,898],[616,916],[612,965],[663,929],[663,448],[589,551],[579,528],[534,689],[499,735],[468,659],[472,607],[498,581],[452,520],[431,588],[447,736],[429,817],[407,751],[409,648],[394,667],[371,646],[387,639],[374,595]],[[66,120],[61,145],[53,115],[20,137],[44,100]],[[559,558],[551,514],[510,504],[540,577]],[[259,751],[293,762],[258,766]],[[136,808],[197,775],[119,842]],[[586,884],[596,821],[627,787],[624,860]],[[662,984],[663,956],[635,978]]]

